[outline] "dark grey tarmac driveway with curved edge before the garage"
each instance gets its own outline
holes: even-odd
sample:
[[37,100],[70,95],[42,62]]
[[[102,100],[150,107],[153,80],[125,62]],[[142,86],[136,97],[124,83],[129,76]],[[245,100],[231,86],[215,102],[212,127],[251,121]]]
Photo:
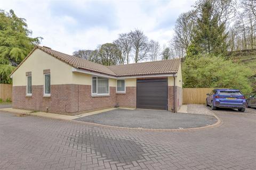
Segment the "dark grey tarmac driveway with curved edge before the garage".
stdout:
[[217,122],[217,119],[210,115],[171,113],[169,111],[147,109],[115,109],[100,114],[80,117],[76,120],[103,125],[145,129],[196,128]]

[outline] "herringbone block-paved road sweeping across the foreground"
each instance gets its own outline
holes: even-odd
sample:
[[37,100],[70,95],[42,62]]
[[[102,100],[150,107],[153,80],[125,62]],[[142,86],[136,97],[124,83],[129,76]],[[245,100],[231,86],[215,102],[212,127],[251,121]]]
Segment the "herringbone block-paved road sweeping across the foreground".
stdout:
[[256,113],[212,129],[150,132],[0,113],[0,169],[256,169]]

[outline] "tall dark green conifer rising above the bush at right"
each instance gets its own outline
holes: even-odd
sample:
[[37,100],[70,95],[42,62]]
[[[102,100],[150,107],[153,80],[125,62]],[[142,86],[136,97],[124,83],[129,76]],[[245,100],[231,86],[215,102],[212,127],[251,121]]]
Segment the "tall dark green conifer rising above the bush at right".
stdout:
[[199,16],[193,28],[193,43],[202,54],[225,55],[228,33],[226,23],[219,22],[220,15],[214,13],[214,1],[206,0],[198,4]]

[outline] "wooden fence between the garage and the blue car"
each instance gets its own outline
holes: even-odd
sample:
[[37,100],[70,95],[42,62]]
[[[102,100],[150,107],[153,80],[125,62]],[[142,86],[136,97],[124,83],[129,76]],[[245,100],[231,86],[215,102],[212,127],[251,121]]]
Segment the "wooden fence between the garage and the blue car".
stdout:
[[214,88],[183,88],[183,104],[205,104],[206,94]]

